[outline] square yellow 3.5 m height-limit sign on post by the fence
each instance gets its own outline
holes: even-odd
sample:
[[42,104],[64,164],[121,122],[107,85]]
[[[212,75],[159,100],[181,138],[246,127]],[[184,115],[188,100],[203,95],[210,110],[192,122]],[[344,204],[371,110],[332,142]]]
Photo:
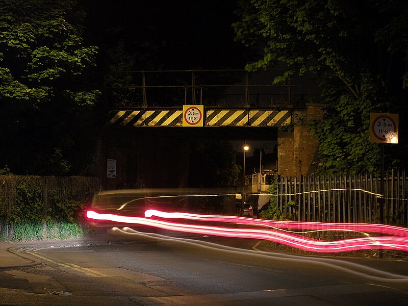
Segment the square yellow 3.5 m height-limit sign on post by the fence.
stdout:
[[370,113],[370,142],[398,143],[398,114]]

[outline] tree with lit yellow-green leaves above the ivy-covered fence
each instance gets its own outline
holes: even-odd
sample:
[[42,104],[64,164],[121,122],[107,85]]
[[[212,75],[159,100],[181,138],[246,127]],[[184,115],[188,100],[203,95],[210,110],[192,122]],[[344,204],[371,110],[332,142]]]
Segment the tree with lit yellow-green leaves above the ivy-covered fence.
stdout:
[[74,0],[0,1],[0,168],[79,173],[91,157],[95,46]]

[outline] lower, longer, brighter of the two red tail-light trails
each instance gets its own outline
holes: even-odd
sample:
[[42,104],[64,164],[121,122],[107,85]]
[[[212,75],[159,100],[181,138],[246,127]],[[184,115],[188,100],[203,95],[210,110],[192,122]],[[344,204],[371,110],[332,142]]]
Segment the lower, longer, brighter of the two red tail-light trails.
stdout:
[[319,241],[304,238],[295,234],[263,230],[258,228],[231,228],[210,225],[195,225],[175,223],[141,217],[119,216],[113,214],[98,214],[87,211],[87,217],[94,220],[109,220],[120,223],[142,224],[170,231],[214,235],[231,238],[263,239],[286,244],[313,252],[343,252],[360,249],[396,249],[408,251],[408,238],[381,236],[344,239],[338,241]]

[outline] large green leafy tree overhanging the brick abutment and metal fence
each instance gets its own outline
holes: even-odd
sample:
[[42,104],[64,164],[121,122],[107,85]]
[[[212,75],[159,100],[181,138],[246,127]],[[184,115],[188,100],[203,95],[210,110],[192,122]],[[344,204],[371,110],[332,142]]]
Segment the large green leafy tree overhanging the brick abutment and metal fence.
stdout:
[[[389,0],[241,1],[236,39],[261,44],[263,59],[248,70],[286,64],[274,82],[316,72],[326,104],[311,129],[321,172],[374,171],[379,146],[369,142],[370,112],[400,114],[400,144],[387,148],[390,166],[404,166],[408,3]],[[391,151],[392,150],[392,151]]]

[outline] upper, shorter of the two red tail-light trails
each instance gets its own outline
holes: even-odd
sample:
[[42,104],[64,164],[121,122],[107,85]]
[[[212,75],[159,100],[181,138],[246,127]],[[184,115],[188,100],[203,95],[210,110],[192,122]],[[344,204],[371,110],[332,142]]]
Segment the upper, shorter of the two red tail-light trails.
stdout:
[[368,232],[387,234],[399,237],[408,238],[408,228],[386,225],[386,224],[370,224],[370,223],[324,223],[324,222],[298,222],[298,221],[274,221],[251,219],[235,216],[220,216],[220,215],[198,215],[180,212],[162,212],[158,210],[146,210],[145,217],[160,217],[166,219],[188,219],[195,221],[208,222],[228,222],[240,223],[256,226],[270,226],[275,228],[293,228],[298,230],[313,230],[313,231],[352,231],[352,232]]

